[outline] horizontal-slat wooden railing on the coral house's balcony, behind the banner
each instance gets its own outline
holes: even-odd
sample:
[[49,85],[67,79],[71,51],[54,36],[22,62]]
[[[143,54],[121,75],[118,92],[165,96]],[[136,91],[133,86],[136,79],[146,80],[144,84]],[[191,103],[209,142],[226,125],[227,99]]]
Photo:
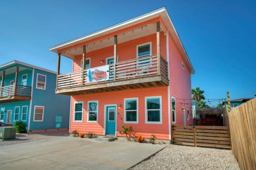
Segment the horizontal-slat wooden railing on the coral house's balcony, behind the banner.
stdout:
[[[159,59],[158,59],[159,58]],[[158,67],[157,60],[160,60]],[[114,67],[116,69],[114,69]],[[109,64],[109,80],[108,81],[119,81],[124,79],[136,79],[146,76],[152,76],[160,74],[166,79],[168,78],[167,62],[157,55],[135,58],[129,61],[122,61],[116,64]],[[114,72],[115,70],[115,72]],[[58,75],[57,89],[72,88],[77,86],[86,86],[92,83],[87,83],[87,70],[84,70],[84,81],[82,80],[82,71],[71,72],[67,74]],[[98,83],[104,83],[98,82]],[[98,84],[97,83],[97,84]]]

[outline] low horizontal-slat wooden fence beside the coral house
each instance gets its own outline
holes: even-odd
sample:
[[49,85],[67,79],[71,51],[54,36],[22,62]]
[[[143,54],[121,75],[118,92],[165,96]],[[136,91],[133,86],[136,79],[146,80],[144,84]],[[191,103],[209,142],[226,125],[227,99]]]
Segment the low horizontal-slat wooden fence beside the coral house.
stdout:
[[172,126],[172,143],[231,149],[228,126]]

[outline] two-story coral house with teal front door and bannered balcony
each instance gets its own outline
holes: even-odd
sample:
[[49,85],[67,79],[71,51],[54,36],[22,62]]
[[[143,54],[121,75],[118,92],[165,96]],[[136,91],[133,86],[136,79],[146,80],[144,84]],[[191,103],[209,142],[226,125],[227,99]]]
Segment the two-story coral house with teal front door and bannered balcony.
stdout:
[[[166,8],[140,15],[66,43],[58,54],[57,94],[71,96],[70,132],[171,140],[171,125],[193,123],[193,66]],[[60,74],[61,56],[73,72]]]

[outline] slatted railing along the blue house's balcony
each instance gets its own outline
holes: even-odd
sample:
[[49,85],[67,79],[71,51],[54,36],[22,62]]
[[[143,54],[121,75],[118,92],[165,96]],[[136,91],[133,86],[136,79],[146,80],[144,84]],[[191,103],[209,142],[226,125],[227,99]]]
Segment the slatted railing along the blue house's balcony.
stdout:
[[31,96],[31,87],[17,85],[16,94],[15,94],[15,85],[14,84],[9,85],[9,86],[0,87],[0,98],[9,97],[9,96],[30,97]]

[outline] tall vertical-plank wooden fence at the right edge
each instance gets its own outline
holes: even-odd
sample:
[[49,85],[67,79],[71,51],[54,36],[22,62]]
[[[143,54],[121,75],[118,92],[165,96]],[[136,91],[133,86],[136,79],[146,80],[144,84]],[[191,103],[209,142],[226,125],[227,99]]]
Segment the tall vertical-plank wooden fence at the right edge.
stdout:
[[228,115],[232,151],[241,169],[256,169],[256,98]]

